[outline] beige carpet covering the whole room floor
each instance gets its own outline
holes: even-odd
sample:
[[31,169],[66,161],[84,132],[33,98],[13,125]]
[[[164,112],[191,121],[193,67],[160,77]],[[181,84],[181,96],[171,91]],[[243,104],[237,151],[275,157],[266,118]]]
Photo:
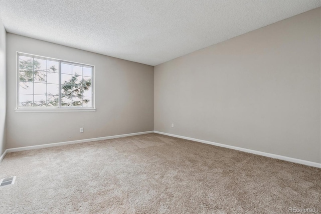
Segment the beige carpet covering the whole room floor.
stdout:
[[1,213],[321,212],[321,169],[159,134],[9,153]]

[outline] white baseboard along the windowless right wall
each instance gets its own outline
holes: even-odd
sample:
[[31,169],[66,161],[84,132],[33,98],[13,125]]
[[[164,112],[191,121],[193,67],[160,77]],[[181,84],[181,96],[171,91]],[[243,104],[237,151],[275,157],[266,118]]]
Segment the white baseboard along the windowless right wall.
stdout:
[[182,139],[186,139],[186,140],[193,140],[193,141],[200,142],[200,143],[211,144],[211,145],[214,145],[214,146],[220,146],[220,147],[224,147],[224,148],[244,151],[244,152],[247,152],[247,153],[258,154],[258,155],[265,156],[265,157],[272,157],[272,158],[275,158],[275,159],[286,160],[286,161],[293,162],[293,163],[300,163],[300,164],[304,164],[304,165],[308,165],[308,166],[321,168],[321,163],[311,162],[311,161],[307,161],[307,160],[301,160],[301,159],[296,159],[296,158],[292,158],[292,157],[286,157],[286,156],[282,156],[282,155],[266,153],[266,152],[262,152],[262,151],[245,149],[245,148],[241,148],[241,147],[237,147],[237,146],[225,145],[225,144],[221,144],[221,143],[214,143],[214,142],[207,141],[207,140],[200,140],[200,139],[180,136],[180,135],[176,135],[176,134],[169,134],[169,133],[164,133],[164,132],[159,132],[159,131],[154,131],[154,133],[168,135],[168,136],[172,136],[172,137],[178,137],[178,138],[182,138]]

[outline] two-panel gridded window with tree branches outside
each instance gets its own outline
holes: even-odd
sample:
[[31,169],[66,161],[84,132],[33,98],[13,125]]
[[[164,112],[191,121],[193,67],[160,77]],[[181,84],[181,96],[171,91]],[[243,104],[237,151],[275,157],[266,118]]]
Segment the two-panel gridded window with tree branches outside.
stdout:
[[17,110],[93,110],[94,67],[17,53]]

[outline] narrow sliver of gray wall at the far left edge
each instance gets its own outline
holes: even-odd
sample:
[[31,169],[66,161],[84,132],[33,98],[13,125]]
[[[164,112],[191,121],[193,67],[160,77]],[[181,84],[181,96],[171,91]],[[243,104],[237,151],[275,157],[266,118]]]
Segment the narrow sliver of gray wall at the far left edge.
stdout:
[[0,19],[0,155],[6,150],[6,30]]

